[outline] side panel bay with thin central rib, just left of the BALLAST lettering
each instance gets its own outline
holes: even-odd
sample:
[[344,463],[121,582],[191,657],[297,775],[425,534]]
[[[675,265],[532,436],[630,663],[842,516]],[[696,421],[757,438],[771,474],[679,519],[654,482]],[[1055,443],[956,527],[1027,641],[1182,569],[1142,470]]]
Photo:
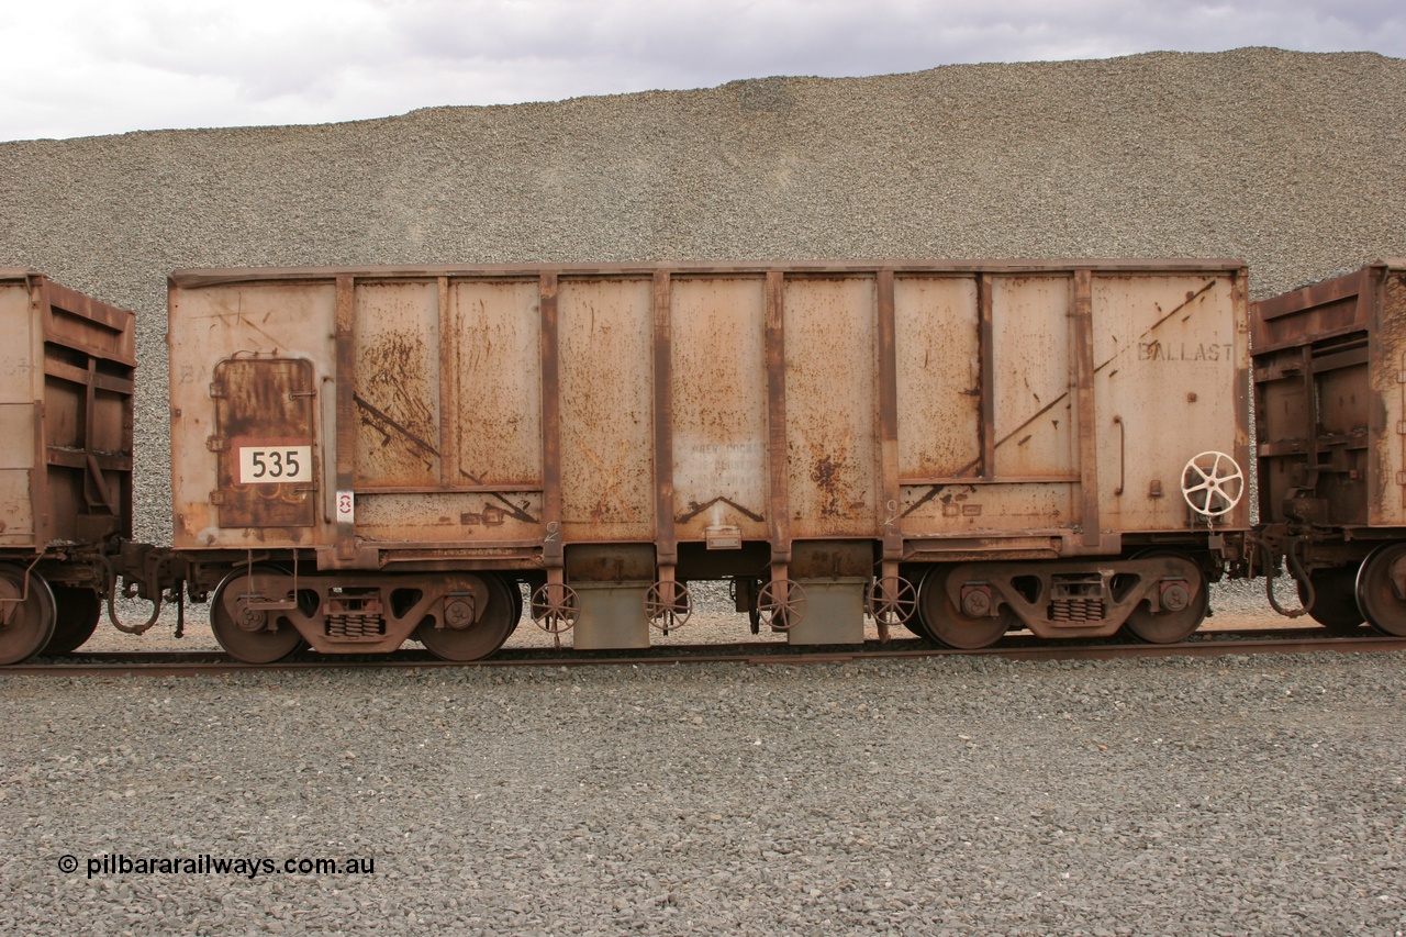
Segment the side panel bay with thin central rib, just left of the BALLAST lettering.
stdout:
[[986,280],[990,349],[983,349],[976,276],[896,283],[900,514],[910,537],[1018,535],[1078,522],[1071,277]]

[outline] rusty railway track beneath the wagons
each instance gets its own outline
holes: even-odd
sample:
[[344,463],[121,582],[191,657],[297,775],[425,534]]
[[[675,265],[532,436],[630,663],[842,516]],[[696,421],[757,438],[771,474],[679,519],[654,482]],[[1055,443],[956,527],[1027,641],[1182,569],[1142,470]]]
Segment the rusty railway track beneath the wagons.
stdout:
[[740,663],[756,665],[825,664],[858,660],[893,660],[905,657],[946,657],[970,654],[1011,660],[1111,660],[1121,657],[1213,657],[1223,654],[1302,654],[1313,651],[1372,653],[1403,651],[1406,637],[1376,635],[1361,629],[1357,635],[1336,635],[1322,627],[1211,630],[1174,644],[1146,644],[1109,640],[1039,642],[1011,636],[981,650],[938,647],[920,639],[896,639],[889,643],[866,642],[862,646],[835,646],[797,650],[789,644],[748,642],[737,644],[673,644],[623,651],[575,651],[571,649],[508,649],[472,663],[444,661],[423,650],[399,650],[394,654],[326,656],[312,651],[294,654],[274,664],[243,664],[221,651],[79,651],[66,657],[35,660],[0,670],[0,674],[73,675],[194,675],[246,671],[292,670],[361,670],[361,668],[434,668],[434,667],[581,667],[621,664],[700,664]]

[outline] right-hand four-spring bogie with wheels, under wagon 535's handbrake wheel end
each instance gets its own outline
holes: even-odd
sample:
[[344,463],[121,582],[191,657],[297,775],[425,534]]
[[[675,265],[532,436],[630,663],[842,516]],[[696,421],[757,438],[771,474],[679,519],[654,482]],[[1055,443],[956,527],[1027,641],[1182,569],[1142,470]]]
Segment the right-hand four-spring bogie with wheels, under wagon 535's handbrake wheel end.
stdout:
[[1178,642],[1201,626],[1206,608],[1205,574],[1180,553],[934,567],[920,601],[932,637],[967,649],[1022,626],[1045,639],[1123,629],[1154,643]]

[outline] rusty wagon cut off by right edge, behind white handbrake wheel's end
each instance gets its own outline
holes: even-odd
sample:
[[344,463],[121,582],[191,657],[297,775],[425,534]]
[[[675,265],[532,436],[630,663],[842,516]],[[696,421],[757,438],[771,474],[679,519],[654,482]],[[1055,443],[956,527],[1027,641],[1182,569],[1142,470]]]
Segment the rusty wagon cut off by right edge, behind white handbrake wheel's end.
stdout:
[[1254,570],[1288,566],[1329,627],[1406,635],[1406,260],[1261,300],[1250,329]]

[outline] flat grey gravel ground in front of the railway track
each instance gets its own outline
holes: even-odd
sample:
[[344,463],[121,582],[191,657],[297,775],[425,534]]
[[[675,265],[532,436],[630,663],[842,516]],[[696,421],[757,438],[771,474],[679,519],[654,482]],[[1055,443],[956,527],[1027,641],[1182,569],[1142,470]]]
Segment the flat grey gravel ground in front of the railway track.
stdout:
[[0,930],[1399,934],[1403,663],[0,675]]

